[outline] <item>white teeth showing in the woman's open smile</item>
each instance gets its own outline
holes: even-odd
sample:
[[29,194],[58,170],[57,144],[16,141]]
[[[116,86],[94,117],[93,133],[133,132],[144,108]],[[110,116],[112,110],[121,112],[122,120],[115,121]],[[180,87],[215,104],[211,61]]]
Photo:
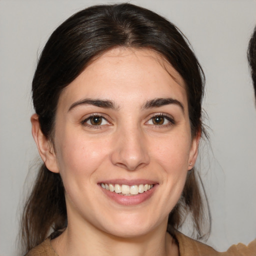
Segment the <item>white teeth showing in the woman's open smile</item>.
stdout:
[[153,184],[139,184],[139,185],[119,185],[119,184],[107,184],[100,183],[100,186],[110,192],[118,193],[120,195],[136,195],[139,193],[144,193],[147,190],[150,190],[154,185]]

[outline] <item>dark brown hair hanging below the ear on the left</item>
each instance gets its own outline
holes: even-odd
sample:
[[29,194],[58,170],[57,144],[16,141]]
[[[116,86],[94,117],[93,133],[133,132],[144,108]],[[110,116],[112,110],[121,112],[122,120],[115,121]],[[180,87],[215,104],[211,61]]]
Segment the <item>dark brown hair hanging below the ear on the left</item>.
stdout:
[[43,164],[28,197],[22,218],[23,249],[28,251],[42,242],[49,229],[57,231],[66,226],[64,187],[58,173],[49,171]]

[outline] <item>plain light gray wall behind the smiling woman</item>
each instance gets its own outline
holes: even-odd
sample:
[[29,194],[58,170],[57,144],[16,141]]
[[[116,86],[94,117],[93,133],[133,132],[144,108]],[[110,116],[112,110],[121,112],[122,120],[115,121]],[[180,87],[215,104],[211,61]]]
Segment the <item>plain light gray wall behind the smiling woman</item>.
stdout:
[[[18,217],[38,159],[30,134],[30,84],[36,57],[53,29],[92,0],[0,0],[0,255],[17,255]],[[119,2],[119,1],[116,1]],[[205,71],[205,121],[212,151],[201,175],[212,232],[225,250],[256,237],[256,109],[246,48],[255,0],[131,0],[175,23]],[[207,152],[208,151],[208,152]],[[27,179],[26,179],[27,176]],[[25,181],[26,179],[26,181]]]

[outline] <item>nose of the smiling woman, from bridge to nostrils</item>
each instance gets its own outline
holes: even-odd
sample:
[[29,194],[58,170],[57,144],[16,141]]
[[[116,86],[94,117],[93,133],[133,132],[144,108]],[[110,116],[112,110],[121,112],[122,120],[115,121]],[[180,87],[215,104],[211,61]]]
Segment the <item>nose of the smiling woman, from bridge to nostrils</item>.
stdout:
[[126,170],[136,170],[149,163],[146,138],[138,127],[120,130],[113,143],[112,164]]

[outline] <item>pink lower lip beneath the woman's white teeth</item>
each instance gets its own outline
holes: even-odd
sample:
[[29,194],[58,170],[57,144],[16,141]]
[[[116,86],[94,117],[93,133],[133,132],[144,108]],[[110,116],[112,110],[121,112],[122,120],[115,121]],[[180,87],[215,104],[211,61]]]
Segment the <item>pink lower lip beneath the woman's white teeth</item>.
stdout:
[[110,197],[112,200],[114,200],[118,204],[136,205],[149,199],[152,196],[153,192],[155,191],[157,184],[154,184],[154,186],[151,189],[143,193],[138,193],[136,195],[121,195],[119,193],[111,192],[109,190],[106,190],[105,188],[102,188],[100,184],[99,184],[99,187],[102,189],[105,195]]

